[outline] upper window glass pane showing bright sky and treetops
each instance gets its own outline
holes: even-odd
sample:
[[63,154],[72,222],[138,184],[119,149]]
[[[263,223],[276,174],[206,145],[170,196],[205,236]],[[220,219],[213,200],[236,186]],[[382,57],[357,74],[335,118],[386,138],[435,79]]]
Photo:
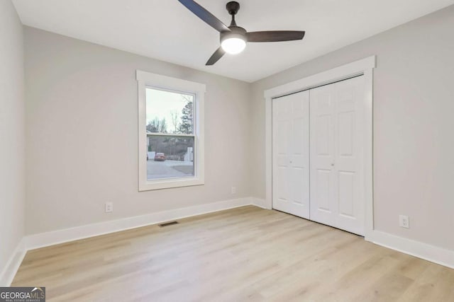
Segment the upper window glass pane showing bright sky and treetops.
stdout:
[[194,134],[194,95],[146,88],[147,133]]

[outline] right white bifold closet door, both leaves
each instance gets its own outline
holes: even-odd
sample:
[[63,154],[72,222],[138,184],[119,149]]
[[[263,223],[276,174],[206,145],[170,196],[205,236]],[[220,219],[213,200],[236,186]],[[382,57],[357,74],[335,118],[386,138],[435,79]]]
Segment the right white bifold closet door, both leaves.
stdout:
[[310,91],[311,220],[364,235],[364,76]]

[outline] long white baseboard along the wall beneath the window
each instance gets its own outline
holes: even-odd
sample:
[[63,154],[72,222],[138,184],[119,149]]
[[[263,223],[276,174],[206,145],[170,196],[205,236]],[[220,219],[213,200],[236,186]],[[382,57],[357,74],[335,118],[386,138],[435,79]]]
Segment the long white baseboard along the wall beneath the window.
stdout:
[[184,217],[196,216],[214,211],[243,207],[250,204],[253,204],[253,198],[244,197],[225,200],[222,202],[212,202],[209,204],[200,204],[192,207],[173,209],[169,211],[160,211],[156,213],[128,217],[125,219],[92,223],[74,228],[65,228],[58,231],[38,233],[26,236],[26,248],[27,250],[33,250],[35,248],[43,248],[49,245],[124,231],[130,228],[138,228],[140,226],[149,226],[151,224],[182,219]]

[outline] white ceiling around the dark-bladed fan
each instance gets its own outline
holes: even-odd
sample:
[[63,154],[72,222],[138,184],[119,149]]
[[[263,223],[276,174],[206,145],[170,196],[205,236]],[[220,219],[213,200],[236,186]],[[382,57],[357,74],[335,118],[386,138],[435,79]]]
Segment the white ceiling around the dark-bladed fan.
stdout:
[[[227,0],[198,0],[227,25]],[[248,31],[306,30],[297,42],[248,43],[214,66],[219,35],[177,0],[13,0],[25,25],[243,81],[257,81],[454,0],[239,0]]]

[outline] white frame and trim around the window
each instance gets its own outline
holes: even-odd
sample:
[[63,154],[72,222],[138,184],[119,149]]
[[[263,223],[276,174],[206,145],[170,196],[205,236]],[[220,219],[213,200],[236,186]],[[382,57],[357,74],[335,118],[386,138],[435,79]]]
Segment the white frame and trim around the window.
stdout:
[[[136,71],[138,81],[138,187],[139,191],[160,190],[171,187],[204,185],[204,96],[206,86],[202,83],[186,81],[152,74],[147,71]],[[148,180],[147,177],[147,130],[146,130],[146,88],[157,88],[164,91],[177,91],[194,95],[194,176],[184,178],[165,178]],[[192,137],[192,135],[190,135]]]

